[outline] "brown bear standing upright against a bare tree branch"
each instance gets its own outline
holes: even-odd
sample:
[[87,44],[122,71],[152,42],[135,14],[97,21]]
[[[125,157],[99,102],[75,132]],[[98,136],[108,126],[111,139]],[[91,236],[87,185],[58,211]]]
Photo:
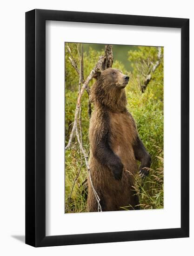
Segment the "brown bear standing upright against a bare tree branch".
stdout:
[[[151,157],[138,136],[132,115],[127,111],[125,87],[127,75],[107,68],[95,75],[91,89],[94,112],[90,119],[89,166],[94,189],[100,197],[102,211],[140,209],[134,191],[134,175],[148,174]],[[98,211],[92,185],[88,179],[87,211]]]

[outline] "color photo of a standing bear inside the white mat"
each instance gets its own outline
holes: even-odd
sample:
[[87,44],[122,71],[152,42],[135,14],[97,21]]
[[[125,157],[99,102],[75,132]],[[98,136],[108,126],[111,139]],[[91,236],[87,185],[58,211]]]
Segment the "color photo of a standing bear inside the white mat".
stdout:
[[64,47],[65,214],[162,209],[163,47]]

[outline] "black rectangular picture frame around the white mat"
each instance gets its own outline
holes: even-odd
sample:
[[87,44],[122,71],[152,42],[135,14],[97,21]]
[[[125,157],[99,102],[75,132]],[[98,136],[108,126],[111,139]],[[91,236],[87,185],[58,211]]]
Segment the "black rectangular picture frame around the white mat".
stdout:
[[[46,236],[46,20],[181,28],[181,228]],[[26,243],[34,247],[189,236],[189,19],[34,9],[26,13]]]

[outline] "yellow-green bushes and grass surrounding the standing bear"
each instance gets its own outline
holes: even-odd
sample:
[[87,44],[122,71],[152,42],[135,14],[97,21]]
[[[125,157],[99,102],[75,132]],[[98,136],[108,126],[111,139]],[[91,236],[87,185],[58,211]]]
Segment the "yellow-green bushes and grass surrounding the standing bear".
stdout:
[[[65,44],[65,143],[73,127],[78,96],[79,75],[69,61],[67,46],[79,63],[76,43]],[[84,78],[90,74],[100,55],[104,54],[103,44],[83,44]],[[119,68],[130,77],[126,87],[127,108],[134,116],[141,140],[152,156],[150,174],[144,180],[137,175],[134,189],[140,197],[141,209],[163,208],[163,48],[159,66],[152,72],[151,67],[158,60],[158,47],[137,47],[113,45],[113,67]],[[151,70],[151,71],[150,71]],[[140,86],[150,74],[144,93]],[[94,83],[90,81],[89,86]],[[85,91],[81,99],[82,141],[89,154],[87,113],[88,95]],[[93,106],[92,106],[93,108]],[[87,168],[80,148],[74,138],[71,148],[65,152],[65,213],[86,212]],[[130,209],[126,206],[124,209]]]

